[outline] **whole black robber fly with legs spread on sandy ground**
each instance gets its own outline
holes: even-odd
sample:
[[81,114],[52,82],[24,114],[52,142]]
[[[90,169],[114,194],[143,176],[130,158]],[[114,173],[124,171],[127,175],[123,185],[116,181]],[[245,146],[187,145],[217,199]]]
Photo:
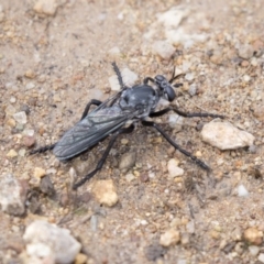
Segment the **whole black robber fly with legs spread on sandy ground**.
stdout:
[[[65,162],[80,155],[100,141],[110,136],[109,144],[96,168],[74,184],[73,188],[77,189],[102,168],[118,136],[120,134],[131,133],[135,128],[135,123],[141,122],[145,127],[152,127],[157,130],[176,150],[190,157],[204,169],[210,170],[210,167],[206,165],[206,163],[176,144],[158,124],[146,119],[161,117],[169,111],[174,111],[185,118],[223,118],[223,116],[200,112],[186,113],[172,106],[156,111],[155,109],[161,98],[165,98],[168,101],[173,101],[176,98],[173,87],[182,86],[182,84],[173,85],[173,82],[180,75],[175,76],[174,70],[173,77],[169,80],[163,75],[156,75],[155,78],[146,77],[143,84],[128,87],[123,82],[117,64],[112,63],[112,66],[118,76],[121,90],[103,102],[92,99],[87,103],[79,122],[68,130],[57,143],[33,150],[30,154],[53,150],[54,155],[59,161]],[[95,105],[96,108],[89,112],[92,105]],[[130,123],[129,127],[128,123]]]

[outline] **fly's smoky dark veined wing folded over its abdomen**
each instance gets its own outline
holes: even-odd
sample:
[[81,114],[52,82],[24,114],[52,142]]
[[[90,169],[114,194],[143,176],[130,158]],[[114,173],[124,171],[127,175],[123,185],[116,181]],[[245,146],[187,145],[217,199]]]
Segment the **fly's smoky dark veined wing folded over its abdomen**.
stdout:
[[91,112],[63,135],[53,153],[59,161],[70,160],[117,131],[129,119],[118,107]]

